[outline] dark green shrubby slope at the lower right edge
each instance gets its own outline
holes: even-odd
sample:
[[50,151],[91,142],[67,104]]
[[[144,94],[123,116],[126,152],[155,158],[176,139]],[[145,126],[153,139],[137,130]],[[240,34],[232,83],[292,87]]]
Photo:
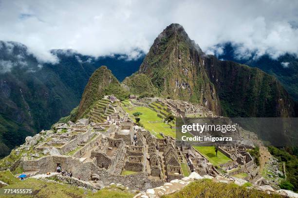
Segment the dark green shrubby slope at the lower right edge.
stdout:
[[283,183],[282,187],[294,186],[294,191],[298,192],[298,159],[296,155],[291,155],[285,149],[268,147],[269,152],[275,156],[279,162],[285,162],[287,183]]

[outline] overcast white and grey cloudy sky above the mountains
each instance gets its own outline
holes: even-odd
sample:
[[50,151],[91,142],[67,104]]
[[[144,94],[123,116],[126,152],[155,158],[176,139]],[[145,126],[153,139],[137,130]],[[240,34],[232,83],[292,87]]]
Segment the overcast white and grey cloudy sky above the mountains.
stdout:
[[0,40],[25,44],[40,62],[50,49],[93,56],[148,52],[170,23],[207,53],[217,44],[273,58],[298,54],[298,0],[0,0]]

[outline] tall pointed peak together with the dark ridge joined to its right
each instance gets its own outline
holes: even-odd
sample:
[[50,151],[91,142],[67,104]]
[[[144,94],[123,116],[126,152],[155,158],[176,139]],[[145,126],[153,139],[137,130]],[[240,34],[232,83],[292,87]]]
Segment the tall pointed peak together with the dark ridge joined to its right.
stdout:
[[205,55],[179,24],[159,34],[138,73],[163,96],[203,104],[220,115],[295,116],[296,103],[275,77]]

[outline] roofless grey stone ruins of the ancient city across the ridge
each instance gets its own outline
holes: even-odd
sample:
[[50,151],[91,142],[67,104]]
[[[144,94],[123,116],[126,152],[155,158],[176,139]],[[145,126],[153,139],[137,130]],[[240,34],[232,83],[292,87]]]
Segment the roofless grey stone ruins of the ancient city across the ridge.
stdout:
[[[163,102],[168,111],[175,103],[174,100],[158,102]],[[195,108],[184,104],[176,104],[176,110],[188,111],[189,108]],[[191,111],[199,112],[198,109]],[[200,175],[220,174],[194,148],[177,146],[173,137],[162,136],[163,138],[156,138],[144,128],[134,125],[128,116],[123,117],[117,112],[109,115],[109,119],[103,123],[89,123],[88,119],[83,119],[77,123],[61,124],[57,126],[56,133],[48,133],[47,140],[37,144],[37,149],[49,152],[38,159],[24,158],[23,169],[25,172],[35,171],[38,174],[55,172],[59,165],[63,170],[72,171],[73,177],[82,181],[94,181],[94,185],[98,182],[105,185],[122,183],[136,190],[153,188],[166,181],[183,178],[185,170],[182,165],[186,171]],[[51,149],[55,152],[50,152]],[[243,147],[220,149],[233,163],[253,177],[255,164]],[[229,165],[232,163],[223,165],[222,168]],[[132,173],[125,175],[125,171]]]

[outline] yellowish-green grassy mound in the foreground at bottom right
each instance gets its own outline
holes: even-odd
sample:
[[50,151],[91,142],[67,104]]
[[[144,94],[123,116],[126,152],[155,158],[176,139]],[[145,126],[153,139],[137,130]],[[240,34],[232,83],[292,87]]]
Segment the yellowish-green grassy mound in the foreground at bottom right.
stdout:
[[180,191],[161,198],[282,198],[282,196],[268,195],[266,192],[248,189],[234,183],[217,183],[203,179],[191,182]]

